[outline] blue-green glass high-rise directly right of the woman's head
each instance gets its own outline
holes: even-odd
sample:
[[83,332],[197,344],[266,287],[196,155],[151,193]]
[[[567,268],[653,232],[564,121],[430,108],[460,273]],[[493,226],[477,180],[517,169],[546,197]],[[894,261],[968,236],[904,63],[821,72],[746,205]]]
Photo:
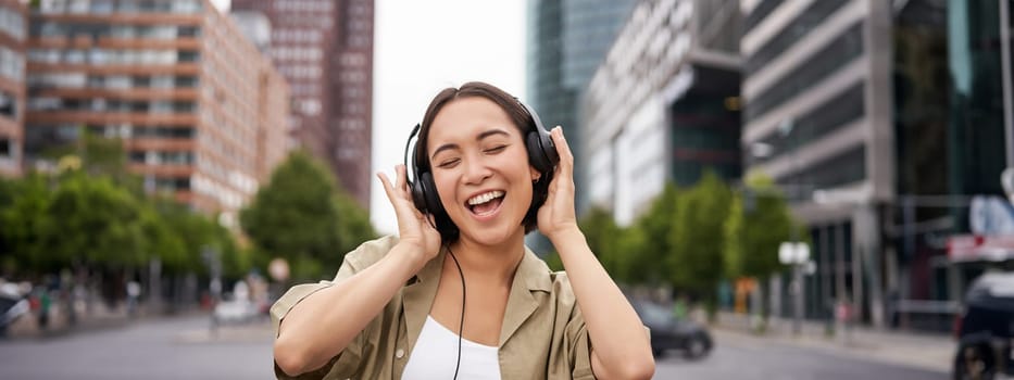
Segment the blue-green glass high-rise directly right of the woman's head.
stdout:
[[[547,128],[560,125],[575,156],[581,156],[580,97],[613,45],[634,0],[529,0],[528,99]],[[577,167],[575,181],[585,187]],[[587,203],[577,192],[578,208]]]

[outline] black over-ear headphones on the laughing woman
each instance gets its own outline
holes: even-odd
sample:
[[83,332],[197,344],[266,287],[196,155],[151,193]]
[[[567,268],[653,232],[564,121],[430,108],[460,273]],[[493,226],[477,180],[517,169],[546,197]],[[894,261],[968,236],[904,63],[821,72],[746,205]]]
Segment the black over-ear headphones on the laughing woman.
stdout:
[[[542,126],[542,121],[539,119],[539,115],[535,110],[521,100],[516,98],[515,100],[525,107],[531,121],[535,123],[535,130],[529,130],[525,134],[525,148],[528,151],[528,164],[541,173],[540,181],[550,180],[552,178],[553,168],[555,168],[556,163],[560,162],[560,153],[556,152],[556,145],[553,143],[553,139],[550,137],[549,131]],[[409,144],[413,137],[417,137],[421,125],[416,124],[415,127],[412,128],[412,134],[409,135],[409,139],[405,141],[403,159],[405,166],[408,166],[409,161]],[[418,140],[416,139],[416,141]],[[423,212],[423,214],[434,215],[435,219],[438,221],[436,228],[441,230],[441,219],[447,220],[446,223],[450,223],[450,220],[446,218],[447,211],[443,210],[443,204],[440,203],[440,195],[437,194],[437,186],[433,181],[431,169],[420,169],[418,163],[415,162],[415,157],[417,156],[417,154],[415,154],[416,150],[418,150],[418,145],[414,147],[412,151],[413,180],[409,181],[409,187],[412,191],[412,201],[415,203],[415,207]]]

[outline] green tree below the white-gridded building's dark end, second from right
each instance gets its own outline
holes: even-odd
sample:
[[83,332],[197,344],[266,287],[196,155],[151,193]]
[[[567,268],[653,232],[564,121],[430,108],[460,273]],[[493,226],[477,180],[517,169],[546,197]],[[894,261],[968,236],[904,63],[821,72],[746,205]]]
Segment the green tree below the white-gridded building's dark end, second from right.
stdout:
[[674,287],[704,297],[713,305],[714,290],[723,277],[725,219],[733,194],[713,172],[679,198],[667,258]]

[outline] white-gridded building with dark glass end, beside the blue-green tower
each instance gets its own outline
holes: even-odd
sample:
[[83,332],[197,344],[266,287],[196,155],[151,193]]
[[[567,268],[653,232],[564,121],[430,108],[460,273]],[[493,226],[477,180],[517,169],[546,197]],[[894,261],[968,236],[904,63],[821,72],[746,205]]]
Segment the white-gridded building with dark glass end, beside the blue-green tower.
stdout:
[[581,101],[592,205],[630,224],[667,181],[741,175],[735,0],[641,1]]

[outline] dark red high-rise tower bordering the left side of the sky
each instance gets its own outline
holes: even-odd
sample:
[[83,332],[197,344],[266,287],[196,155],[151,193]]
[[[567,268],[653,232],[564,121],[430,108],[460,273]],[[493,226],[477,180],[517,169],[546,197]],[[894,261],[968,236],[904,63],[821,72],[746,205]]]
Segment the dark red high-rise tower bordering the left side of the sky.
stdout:
[[233,0],[271,21],[271,56],[292,89],[293,134],[370,208],[373,0]]

